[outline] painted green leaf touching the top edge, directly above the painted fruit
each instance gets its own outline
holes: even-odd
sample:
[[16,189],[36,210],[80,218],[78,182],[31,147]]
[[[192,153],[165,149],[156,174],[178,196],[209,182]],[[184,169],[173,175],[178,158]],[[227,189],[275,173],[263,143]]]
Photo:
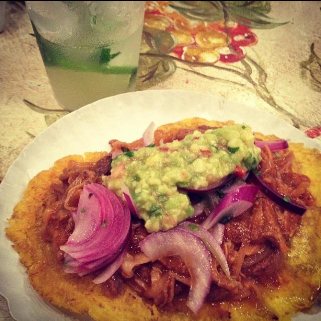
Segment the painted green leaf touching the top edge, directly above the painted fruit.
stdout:
[[188,19],[216,22],[224,18],[219,1],[172,1],[170,7]]

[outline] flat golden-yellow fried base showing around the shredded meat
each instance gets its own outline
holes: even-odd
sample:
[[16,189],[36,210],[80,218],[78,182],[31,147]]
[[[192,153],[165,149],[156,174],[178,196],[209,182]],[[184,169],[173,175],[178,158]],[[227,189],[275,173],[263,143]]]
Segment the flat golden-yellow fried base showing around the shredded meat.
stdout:
[[[193,118],[175,124],[163,125],[159,130],[176,132],[178,128],[195,125],[218,126],[220,122],[209,122]],[[259,138],[265,138],[256,134]],[[271,139],[269,136],[268,139]],[[294,170],[311,179],[310,192],[316,206],[302,218],[299,232],[291,239],[291,250],[285,257],[282,274],[288,280],[280,288],[264,288],[260,306],[248,299],[241,302],[205,304],[197,316],[192,312],[159,312],[155,306],[145,303],[133,290],[125,289],[120,298],[110,299],[102,294],[102,285],[91,282],[92,276],[79,277],[66,274],[57,263],[51,246],[41,238],[44,208],[54,202],[51,183],[70,159],[77,162],[96,161],[103,153],[87,153],[85,158],[71,155],[57,161],[53,168],[41,172],[29,183],[22,201],[15,207],[7,229],[8,237],[27,267],[29,279],[42,297],[51,303],[73,312],[89,314],[95,320],[289,320],[291,314],[309,307],[321,283],[321,154],[316,149],[307,149],[303,144],[290,143],[295,153]]]

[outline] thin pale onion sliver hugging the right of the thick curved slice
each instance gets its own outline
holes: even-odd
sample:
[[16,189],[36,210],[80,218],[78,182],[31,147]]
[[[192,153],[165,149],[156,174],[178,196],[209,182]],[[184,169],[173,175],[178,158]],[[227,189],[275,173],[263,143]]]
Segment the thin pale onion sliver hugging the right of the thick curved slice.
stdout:
[[218,244],[217,240],[209,231],[204,229],[202,226],[194,223],[183,222],[181,223],[178,228],[183,228],[187,230],[189,233],[192,233],[201,238],[204,242],[206,247],[210,250],[213,254],[217,262],[220,264],[223,272],[226,274],[228,278],[231,277],[229,266],[227,264],[226,257],[224,255],[223,250],[221,249],[220,245]]

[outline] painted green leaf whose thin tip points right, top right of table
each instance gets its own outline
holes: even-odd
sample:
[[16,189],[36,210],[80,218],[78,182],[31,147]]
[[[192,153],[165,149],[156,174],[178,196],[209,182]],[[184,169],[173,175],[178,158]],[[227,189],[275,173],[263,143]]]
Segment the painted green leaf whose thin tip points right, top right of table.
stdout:
[[252,29],[272,29],[287,24],[277,23],[250,7],[230,7],[228,11],[230,20]]

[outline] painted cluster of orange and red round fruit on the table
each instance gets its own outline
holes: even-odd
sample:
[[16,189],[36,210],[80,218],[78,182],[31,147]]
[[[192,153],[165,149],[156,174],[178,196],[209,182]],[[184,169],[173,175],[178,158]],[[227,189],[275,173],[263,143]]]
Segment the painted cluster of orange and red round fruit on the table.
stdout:
[[225,24],[223,19],[217,22],[188,19],[168,1],[147,2],[144,25],[169,33],[174,46],[168,54],[191,62],[234,63],[246,56],[244,47],[258,41],[245,26]]

